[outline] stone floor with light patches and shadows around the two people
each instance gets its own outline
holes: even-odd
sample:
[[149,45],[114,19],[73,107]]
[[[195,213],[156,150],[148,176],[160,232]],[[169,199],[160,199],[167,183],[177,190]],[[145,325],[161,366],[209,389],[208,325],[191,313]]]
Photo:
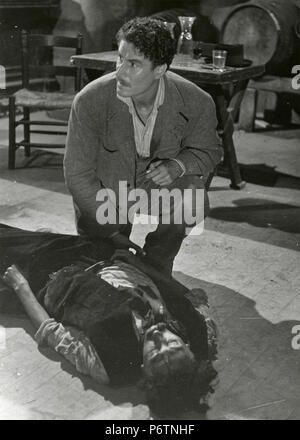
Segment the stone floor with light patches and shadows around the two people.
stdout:
[[[300,418],[300,351],[292,348],[300,324],[299,139],[299,130],[237,132],[247,186],[234,191],[227,179],[214,179],[205,230],[188,237],[176,258],[174,276],[205,290],[219,328],[219,384],[210,409],[182,419]],[[0,222],[74,233],[61,156],[8,171],[6,145],[2,119]],[[142,242],[144,234],[137,227],[133,239]],[[97,386],[56,353],[38,349],[32,335],[24,316],[0,311],[0,419],[153,417],[138,388]]]

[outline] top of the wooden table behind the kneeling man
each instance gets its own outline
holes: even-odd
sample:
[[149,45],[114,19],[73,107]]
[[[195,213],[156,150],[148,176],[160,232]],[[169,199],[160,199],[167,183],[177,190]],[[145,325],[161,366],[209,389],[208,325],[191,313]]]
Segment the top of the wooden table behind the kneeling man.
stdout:
[[[116,61],[117,51],[87,53],[71,57],[71,63],[74,66],[104,71],[114,70]],[[187,62],[183,57],[175,55],[170,70],[195,83],[226,84],[261,76],[265,72],[265,66],[226,67],[220,72],[214,70],[211,64],[204,64],[193,59]]]

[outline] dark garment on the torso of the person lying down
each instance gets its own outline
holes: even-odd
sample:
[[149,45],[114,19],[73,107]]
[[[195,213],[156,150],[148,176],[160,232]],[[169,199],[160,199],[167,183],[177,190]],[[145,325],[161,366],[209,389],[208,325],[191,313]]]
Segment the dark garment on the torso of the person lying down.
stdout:
[[[132,312],[138,312],[146,322],[151,317],[151,307],[139,289],[119,291],[76,266],[66,267],[51,278],[38,295],[49,315],[86,332],[113,383],[136,378],[142,364],[142,347]],[[185,287],[172,278],[159,283],[173,318],[168,325],[190,342],[196,359],[207,359],[206,323],[185,298]],[[149,327],[152,324],[149,321]]]

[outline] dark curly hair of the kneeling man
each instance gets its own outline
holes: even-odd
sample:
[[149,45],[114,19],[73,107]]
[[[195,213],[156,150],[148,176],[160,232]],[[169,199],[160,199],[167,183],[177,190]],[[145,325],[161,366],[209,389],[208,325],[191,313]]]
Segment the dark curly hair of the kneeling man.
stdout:
[[136,17],[125,23],[116,35],[117,42],[132,43],[153,63],[153,68],[167,64],[170,67],[175,55],[175,42],[161,20]]

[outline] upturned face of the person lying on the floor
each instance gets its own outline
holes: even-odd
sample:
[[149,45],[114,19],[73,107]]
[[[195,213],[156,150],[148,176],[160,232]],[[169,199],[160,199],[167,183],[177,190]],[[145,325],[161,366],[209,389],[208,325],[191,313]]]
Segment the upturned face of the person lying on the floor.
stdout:
[[183,340],[170,332],[166,324],[159,323],[150,327],[145,333],[143,347],[144,373],[147,377],[164,377],[171,370],[180,369],[186,360],[194,355]]

